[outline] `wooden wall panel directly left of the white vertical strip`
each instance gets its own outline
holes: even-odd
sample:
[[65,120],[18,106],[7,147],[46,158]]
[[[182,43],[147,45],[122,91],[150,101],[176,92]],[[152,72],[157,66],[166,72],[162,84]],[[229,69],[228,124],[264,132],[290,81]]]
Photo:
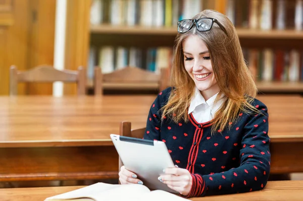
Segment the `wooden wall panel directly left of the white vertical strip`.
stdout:
[[[30,0],[31,23],[29,26],[28,68],[54,64],[56,1]],[[52,95],[52,83],[28,85],[30,95]]]

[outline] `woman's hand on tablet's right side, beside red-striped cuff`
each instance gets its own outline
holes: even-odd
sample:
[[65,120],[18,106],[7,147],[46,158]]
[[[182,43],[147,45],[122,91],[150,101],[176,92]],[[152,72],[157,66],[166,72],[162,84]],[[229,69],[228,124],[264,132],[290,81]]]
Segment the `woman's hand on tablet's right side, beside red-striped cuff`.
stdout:
[[192,178],[187,169],[167,168],[163,170],[166,175],[161,175],[158,179],[180,194],[187,196],[192,185]]

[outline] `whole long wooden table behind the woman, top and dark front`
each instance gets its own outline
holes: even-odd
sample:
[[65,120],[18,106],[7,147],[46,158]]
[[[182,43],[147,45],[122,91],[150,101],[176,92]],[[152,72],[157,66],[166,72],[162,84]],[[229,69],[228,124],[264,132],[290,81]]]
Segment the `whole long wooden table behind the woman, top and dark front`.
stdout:
[[[117,178],[109,138],[144,127],[155,96],[0,97],[0,181]],[[260,96],[269,108],[272,173],[303,172],[303,98]]]

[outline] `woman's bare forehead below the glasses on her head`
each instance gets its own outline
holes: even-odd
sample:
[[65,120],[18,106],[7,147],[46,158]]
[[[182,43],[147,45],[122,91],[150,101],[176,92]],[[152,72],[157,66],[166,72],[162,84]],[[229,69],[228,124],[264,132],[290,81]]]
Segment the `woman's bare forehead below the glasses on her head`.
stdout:
[[185,38],[182,42],[182,46],[183,51],[189,53],[199,53],[208,50],[205,42],[197,35],[190,35]]

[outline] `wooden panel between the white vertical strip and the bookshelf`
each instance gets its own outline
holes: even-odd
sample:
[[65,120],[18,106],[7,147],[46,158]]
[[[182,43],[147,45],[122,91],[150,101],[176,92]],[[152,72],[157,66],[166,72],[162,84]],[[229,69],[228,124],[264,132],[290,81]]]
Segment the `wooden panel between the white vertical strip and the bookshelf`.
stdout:
[[[86,68],[91,0],[67,0],[65,69]],[[76,94],[76,84],[65,84],[64,94]]]

